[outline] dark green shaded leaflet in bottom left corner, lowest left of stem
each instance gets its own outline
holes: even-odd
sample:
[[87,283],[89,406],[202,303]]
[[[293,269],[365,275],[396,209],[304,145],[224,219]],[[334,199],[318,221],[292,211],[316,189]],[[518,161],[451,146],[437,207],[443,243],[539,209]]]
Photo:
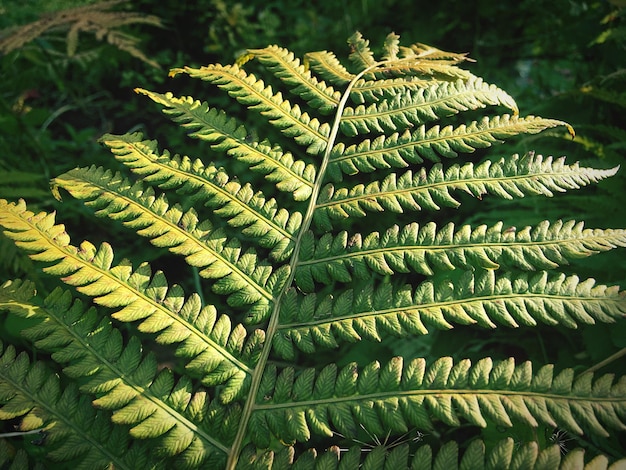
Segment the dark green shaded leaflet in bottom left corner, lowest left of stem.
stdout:
[[40,429],[48,457],[76,459],[80,469],[113,464],[132,470],[158,461],[145,443],[129,442],[124,428],[111,426],[107,411],[96,411],[89,399],[43,362],[31,364],[25,353],[0,345],[0,419],[19,419],[21,432]]

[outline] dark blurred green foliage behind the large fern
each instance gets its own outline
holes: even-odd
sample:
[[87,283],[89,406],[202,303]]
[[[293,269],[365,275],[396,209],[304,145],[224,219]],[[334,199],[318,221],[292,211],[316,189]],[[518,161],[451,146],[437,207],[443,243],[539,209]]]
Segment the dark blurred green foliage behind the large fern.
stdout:
[[[0,0],[0,197],[23,197],[34,209],[55,210],[59,202],[48,186],[52,177],[75,166],[115,167],[97,142],[105,132],[141,130],[159,139],[161,148],[201,158],[206,147],[187,139],[145,98],[135,95],[134,87],[169,90],[228,106],[220,94],[209,96],[212,91],[202,83],[167,80],[167,70],[232,63],[246,48],[269,44],[297,56],[326,49],[345,57],[346,38],[355,30],[374,48],[393,31],[403,44],[422,42],[468,52],[476,60],[468,66],[471,71],[508,91],[522,115],[561,119],[577,132],[574,139],[554,131],[510,141],[477,152],[472,159],[536,149],[546,156],[566,155],[568,162],[582,165],[621,165],[626,155],[625,4],[623,0]],[[39,27],[37,34],[16,42],[25,31],[32,33],[33,25]],[[599,185],[550,199],[477,201],[461,196],[461,210],[434,217],[472,224],[503,220],[517,227],[576,218],[588,227],[626,227],[625,175],[623,168]],[[187,290],[197,287],[194,273],[184,263],[128,236],[121,226],[99,223],[70,198],[63,201],[60,214],[59,221],[71,227],[74,243],[85,238],[111,241],[118,256],[136,263],[147,260],[170,273],[180,269]],[[1,236],[0,255],[0,279],[29,277],[42,293],[54,287],[54,279],[38,275]],[[581,260],[571,272],[626,287],[624,250]],[[5,319],[0,322],[0,340],[23,327],[6,324]],[[514,356],[552,362],[557,369],[626,373],[625,361],[619,360],[626,351],[625,322],[576,332],[520,328],[513,333],[514,341],[511,334],[504,329],[464,328],[419,341],[393,341],[387,352],[456,359]],[[371,357],[373,351],[376,357]],[[329,355],[345,363],[384,360],[379,349],[366,344],[352,347],[349,354]],[[547,431],[548,438],[553,431]],[[493,430],[484,431],[485,436],[489,432]],[[590,442],[577,444],[593,447]],[[624,449],[623,438],[616,438],[616,455]]]

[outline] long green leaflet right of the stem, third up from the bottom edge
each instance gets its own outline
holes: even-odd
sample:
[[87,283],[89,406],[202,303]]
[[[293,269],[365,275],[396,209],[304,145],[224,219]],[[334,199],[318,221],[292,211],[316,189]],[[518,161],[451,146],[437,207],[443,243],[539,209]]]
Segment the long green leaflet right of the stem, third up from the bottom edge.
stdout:
[[273,346],[286,359],[295,349],[314,354],[343,342],[380,342],[388,335],[425,335],[455,325],[517,328],[538,323],[568,328],[626,317],[626,292],[594,279],[547,272],[466,271],[427,280],[417,288],[361,284],[338,295],[283,298]]

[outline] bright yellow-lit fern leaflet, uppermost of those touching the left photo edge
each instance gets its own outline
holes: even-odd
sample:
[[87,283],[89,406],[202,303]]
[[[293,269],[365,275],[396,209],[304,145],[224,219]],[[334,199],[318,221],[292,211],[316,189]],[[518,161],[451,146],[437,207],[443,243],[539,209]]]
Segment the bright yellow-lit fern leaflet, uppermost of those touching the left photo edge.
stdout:
[[[160,342],[181,343],[180,352],[193,361],[190,369],[206,385],[223,385],[223,401],[230,401],[249,385],[255,354],[264,336],[258,331],[243,347],[245,329],[231,330],[226,317],[218,320],[215,307],[201,308],[197,294],[185,299],[179,286],[168,288],[165,276],[154,276],[144,263],[133,271],[128,262],[112,267],[113,251],[108,244],[96,249],[88,242],[70,244],[62,225],[54,225],[51,214],[34,215],[23,202],[0,200],[0,223],[5,234],[30,251],[31,258],[51,263],[44,271],[60,276],[99,305],[120,308],[112,316],[124,322],[143,320],[139,330],[160,333]],[[240,358],[240,351],[247,351]]]

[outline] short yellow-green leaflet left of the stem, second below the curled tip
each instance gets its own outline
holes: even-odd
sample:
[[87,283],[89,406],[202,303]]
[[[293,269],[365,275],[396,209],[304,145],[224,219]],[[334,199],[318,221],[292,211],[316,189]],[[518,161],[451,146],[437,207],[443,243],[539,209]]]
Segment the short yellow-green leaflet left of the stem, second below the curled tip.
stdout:
[[248,54],[258,59],[274,76],[291,87],[295,96],[306,100],[307,104],[327,114],[337,108],[341,93],[319,82],[300,64],[293,53],[278,46],[265,49],[250,49]]

